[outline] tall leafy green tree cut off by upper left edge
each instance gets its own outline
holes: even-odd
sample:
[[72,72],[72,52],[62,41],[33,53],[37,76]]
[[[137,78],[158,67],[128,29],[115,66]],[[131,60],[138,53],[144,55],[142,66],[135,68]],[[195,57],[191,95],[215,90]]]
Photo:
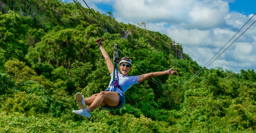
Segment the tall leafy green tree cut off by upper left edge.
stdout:
[[0,12],[0,48],[5,51],[5,58],[23,59],[28,52],[28,45],[19,40],[20,35],[25,34],[21,18],[14,11],[2,15]]

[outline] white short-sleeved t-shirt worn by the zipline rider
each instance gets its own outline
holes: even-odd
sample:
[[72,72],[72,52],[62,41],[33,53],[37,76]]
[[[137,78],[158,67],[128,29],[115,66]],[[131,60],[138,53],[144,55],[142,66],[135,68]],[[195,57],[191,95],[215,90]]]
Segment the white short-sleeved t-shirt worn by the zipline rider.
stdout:
[[[115,75],[116,75],[116,72],[115,72]],[[110,85],[113,81],[113,72],[112,72],[112,74],[110,74],[110,76],[111,76],[111,80],[109,82],[108,87],[110,87]],[[118,71],[119,85],[122,87],[124,93],[127,89],[131,88],[132,85],[139,84],[138,79],[139,79],[140,75],[139,76],[124,76],[124,77],[123,76],[124,75],[120,74],[120,72]],[[115,78],[117,78],[117,77],[115,77]]]

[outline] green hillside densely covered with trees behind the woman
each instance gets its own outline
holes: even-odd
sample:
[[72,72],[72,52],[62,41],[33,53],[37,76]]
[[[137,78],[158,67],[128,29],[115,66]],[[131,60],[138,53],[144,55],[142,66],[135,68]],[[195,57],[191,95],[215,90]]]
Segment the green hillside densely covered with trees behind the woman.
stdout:
[[[113,48],[89,9],[81,9]],[[177,61],[178,78],[185,82],[202,68],[185,53],[179,58],[181,45],[172,51],[175,38],[143,23],[119,23],[111,14],[93,12],[113,42],[146,73],[176,70]],[[95,44],[99,37],[74,3],[1,0],[0,132],[256,133],[253,69],[240,74],[206,69],[185,85],[175,75],[155,77],[168,83],[133,85],[121,110],[97,108],[90,119],[73,114],[79,109],[76,92],[90,97],[109,84],[110,73]],[[129,76],[140,75],[135,70]]]

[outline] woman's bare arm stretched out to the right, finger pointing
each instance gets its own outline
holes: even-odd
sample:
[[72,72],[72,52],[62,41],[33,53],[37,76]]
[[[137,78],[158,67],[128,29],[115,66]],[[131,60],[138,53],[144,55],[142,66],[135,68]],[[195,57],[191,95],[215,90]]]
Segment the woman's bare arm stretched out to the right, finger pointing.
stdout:
[[139,79],[138,79],[138,83],[151,78],[151,77],[157,77],[157,76],[161,76],[161,75],[165,75],[165,74],[169,74],[172,75],[173,73],[178,73],[176,71],[172,71],[173,68],[166,70],[166,71],[162,71],[162,72],[154,72],[154,73],[147,73],[147,74],[143,74],[140,75]]

